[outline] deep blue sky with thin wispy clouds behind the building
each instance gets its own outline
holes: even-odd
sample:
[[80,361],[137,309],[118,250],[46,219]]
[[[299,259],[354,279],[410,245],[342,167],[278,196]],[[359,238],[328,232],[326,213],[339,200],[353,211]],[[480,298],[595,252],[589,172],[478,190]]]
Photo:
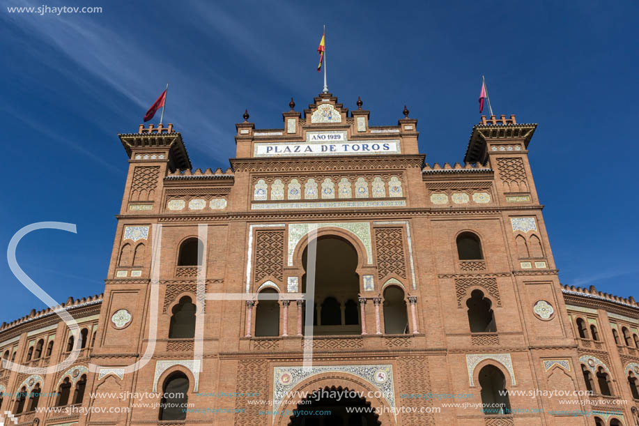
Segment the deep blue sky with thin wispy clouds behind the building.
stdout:
[[[42,6],[8,0],[5,6]],[[47,1],[99,14],[0,10],[3,203],[0,246],[33,222],[17,259],[57,301],[103,290],[127,157],[170,82],[165,122],[194,167],[229,167],[234,123],[282,127],[321,91],[316,48],[327,24],[329,88],[362,96],[372,125],[419,119],[426,161],[461,162],[479,121],[482,74],[495,114],[539,123],[530,161],[564,284],[637,291],[639,6],[603,2]],[[41,303],[0,262],[0,321]]]

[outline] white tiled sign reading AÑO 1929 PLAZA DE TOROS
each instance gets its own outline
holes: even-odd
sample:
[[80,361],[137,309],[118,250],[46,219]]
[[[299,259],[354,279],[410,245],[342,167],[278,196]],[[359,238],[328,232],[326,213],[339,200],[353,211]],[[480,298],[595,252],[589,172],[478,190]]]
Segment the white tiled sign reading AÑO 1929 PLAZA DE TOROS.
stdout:
[[256,142],[254,157],[401,153],[399,139],[349,141],[346,132],[307,132],[306,142]]

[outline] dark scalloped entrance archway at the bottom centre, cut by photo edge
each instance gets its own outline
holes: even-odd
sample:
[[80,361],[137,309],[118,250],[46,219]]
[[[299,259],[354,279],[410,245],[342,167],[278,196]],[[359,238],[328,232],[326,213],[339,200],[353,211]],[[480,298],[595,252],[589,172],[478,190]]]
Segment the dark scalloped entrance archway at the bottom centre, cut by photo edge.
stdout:
[[[353,409],[351,409],[353,407]],[[351,411],[348,413],[346,408]],[[360,413],[353,411],[361,410]],[[366,409],[370,412],[366,413]],[[317,413],[325,411],[325,414],[305,415],[304,412]],[[301,412],[301,415],[298,415]],[[309,393],[309,396],[300,402],[290,418],[288,426],[380,426],[382,423],[371,403],[360,397],[357,392],[341,386],[325,386]]]

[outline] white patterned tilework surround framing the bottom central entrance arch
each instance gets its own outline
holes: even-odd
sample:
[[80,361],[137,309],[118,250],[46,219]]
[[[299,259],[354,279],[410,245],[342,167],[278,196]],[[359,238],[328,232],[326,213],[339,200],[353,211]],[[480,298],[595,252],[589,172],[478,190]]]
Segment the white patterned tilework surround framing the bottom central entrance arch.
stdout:
[[[273,367],[273,409],[279,409],[286,395],[311,376],[322,373],[340,372],[352,374],[364,379],[379,390],[391,408],[395,406],[393,367],[390,364],[379,365],[314,365],[311,368],[285,366]],[[275,416],[273,416],[275,421]]]

